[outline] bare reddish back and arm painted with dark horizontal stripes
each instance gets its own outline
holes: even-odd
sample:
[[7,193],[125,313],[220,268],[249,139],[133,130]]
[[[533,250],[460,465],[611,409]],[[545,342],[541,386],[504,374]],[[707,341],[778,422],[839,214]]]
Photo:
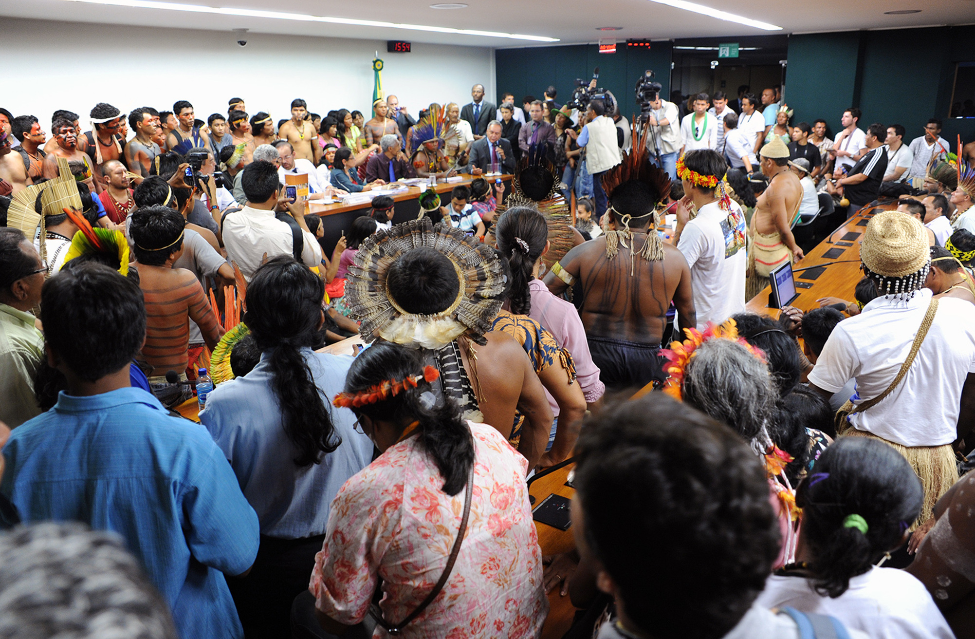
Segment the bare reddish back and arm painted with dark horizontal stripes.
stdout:
[[[142,265],[140,268],[148,275],[152,267]],[[200,327],[211,350],[223,337],[223,329],[216,321],[210,301],[193,273],[176,268],[172,275],[166,274],[165,285],[160,286],[159,279],[143,277],[139,284],[145,296],[146,315],[142,359],[153,367],[153,377],[166,375],[167,371],[182,373],[186,369],[190,318]]]

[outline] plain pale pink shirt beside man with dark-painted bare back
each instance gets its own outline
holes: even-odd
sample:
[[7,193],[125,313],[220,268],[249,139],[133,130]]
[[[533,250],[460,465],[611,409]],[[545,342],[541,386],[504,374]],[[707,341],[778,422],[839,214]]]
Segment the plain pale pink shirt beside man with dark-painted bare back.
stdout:
[[[576,379],[586,402],[592,404],[603,397],[606,387],[600,381],[600,368],[593,363],[593,356],[589,353],[589,342],[586,341],[586,330],[579,319],[579,311],[571,302],[552,295],[539,279],[528,282],[528,293],[531,295],[531,312],[528,317],[548,329],[559,345],[571,353],[575,361]],[[548,397],[552,411],[558,416],[559,406],[555,399],[547,390],[545,396]]]

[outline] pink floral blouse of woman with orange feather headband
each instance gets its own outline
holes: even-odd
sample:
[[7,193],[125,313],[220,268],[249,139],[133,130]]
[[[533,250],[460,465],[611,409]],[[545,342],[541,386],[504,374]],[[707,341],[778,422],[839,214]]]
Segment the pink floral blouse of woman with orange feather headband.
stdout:
[[[548,615],[541,549],[525,483],[527,461],[492,426],[474,435],[467,534],[444,590],[404,637],[538,637]],[[430,593],[450,554],[464,491],[448,497],[436,464],[410,437],[345,482],[308,589],[340,623],[365,619],[382,579],[383,618],[399,622]],[[373,637],[386,637],[376,626]]]

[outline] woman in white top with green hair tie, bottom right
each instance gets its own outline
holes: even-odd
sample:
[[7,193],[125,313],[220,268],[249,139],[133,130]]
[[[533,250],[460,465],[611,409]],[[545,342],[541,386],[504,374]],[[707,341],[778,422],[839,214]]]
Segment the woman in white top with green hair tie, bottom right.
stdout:
[[872,439],[839,438],[796,491],[798,561],[768,578],[758,603],[830,615],[872,639],[954,637],[924,584],[878,568],[907,540],[923,501],[920,480],[900,453]]

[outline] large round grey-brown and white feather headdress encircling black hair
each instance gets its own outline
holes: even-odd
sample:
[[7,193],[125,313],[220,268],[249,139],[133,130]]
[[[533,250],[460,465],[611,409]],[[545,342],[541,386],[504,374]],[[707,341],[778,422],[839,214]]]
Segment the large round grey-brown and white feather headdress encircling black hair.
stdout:
[[[386,285],[393,263],[422,247],[450,260],[459,280],[457,298],[429,315],[404,310]],[[380,230],[362,243],[349,268],[344,300],[349,317],[362,322],[359,334],[364,340],[440,348],[463,334],[483,341],[501,308],[504,289],[504,268],[493,249],[458,228],[434,226],[421,218]]]

